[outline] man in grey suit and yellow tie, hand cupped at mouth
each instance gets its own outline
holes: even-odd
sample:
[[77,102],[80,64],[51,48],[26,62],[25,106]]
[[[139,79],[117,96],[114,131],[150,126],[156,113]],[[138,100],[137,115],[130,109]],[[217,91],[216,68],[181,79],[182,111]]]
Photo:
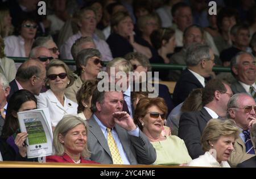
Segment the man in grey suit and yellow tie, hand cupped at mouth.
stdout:
[[[87,141],[91,152],[90,160],[103,164],[154,163],[156,160],[154,147],[134,124],[130,115],[122,111],[122,92],[108,89],[101,92],[96,89],[92,96],[93,115],[88,122]],[[114,140],[109,139],[110,135]],[[110,141],[114,141],[112,146],[117,146],[115,152],[109,144]]]

